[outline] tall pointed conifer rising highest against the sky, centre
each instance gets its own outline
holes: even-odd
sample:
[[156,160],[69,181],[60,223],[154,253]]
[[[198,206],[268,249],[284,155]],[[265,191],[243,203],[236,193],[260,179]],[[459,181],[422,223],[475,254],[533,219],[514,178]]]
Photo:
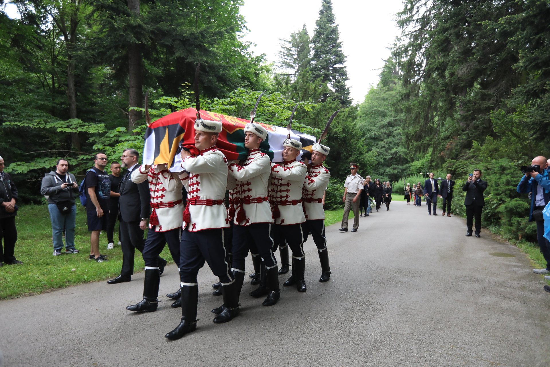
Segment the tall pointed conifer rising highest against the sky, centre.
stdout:
[[322,102],[333,97],[344,106],[350,105],[348,72],[344,66],[346,57],[342,52],[342,42],[339,41],[338,25],[334,24],[331,0],[322,0],[319,19],[315,22],[317,28],[313,32],[313,56],[311,58],[311,73],[314,79],[321,79],[332,88],[332,93],[325,93]]

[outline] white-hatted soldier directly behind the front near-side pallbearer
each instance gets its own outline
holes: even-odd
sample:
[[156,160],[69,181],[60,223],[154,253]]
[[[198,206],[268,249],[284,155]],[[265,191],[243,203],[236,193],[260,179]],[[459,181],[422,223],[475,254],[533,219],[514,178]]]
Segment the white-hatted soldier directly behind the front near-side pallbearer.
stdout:
[[[239,293],[243,286],[245,258],[250,245],[261,256],[261,291],[250,293],[253,297],[267,294],[264,306],[272,306],[280,297],[277,260],[273,255],[274,241],[271,238],[273,215],[267,196],[271,176],[270,157],[260,151],[260,144],[267,138],[267,130],[257,123],[248,123],[244,128],[244,145],[248,157],[229,165],[229,176],[235,178],[233,205],[233,271]],[[216,311],[216,310],[213,310]]]

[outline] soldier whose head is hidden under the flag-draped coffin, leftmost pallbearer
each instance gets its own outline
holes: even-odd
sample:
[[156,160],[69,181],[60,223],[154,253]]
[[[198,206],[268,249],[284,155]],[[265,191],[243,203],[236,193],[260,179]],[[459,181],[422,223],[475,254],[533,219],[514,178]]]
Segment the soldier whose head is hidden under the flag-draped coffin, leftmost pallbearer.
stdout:
[[[183,183],[178,173],[168,171],[166,164],[142,165],[131,173],[132,182],[139,184],[149,180],[151,195],[150,205],[153,208],[149,218],[149,232],[143,249],[145,261],[145,282],[143,300],[128,306],[130,311],[155,311],[158,305],[158,286],[160,272],[157,257],[168,243],[172,259],[179,266],[179,237],[182,228],[183,213]],[[177,298],[178,293],[170,294]],[[172,304],[179,307],[178,299]]]

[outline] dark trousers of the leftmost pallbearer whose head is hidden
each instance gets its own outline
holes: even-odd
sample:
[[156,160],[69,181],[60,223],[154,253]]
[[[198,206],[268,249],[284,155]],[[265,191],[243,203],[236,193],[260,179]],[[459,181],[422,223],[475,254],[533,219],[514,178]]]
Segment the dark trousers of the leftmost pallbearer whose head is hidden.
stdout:
[[172,259],[179,267],[179,231],[179,228],[166,232],[155,232],[155,228],[149,229],[143,249],[145,266],[158,267],[158,260],[160,259],[158,255],[162,253],[164,246],[168,243]]

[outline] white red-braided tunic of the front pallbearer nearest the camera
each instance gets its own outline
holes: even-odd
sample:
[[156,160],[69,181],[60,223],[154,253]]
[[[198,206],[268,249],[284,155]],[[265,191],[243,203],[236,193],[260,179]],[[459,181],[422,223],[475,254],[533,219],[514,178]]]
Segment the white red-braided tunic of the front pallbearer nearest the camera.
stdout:
[[[182,168],[189,172],[187,201],[190,213],[188,231],[229,227],[229,216],[223,202],[226,196],[227,160],[215,146],[201,150],[197,157],[183,158]],[[187,210],[187,209],[186,209]]]

